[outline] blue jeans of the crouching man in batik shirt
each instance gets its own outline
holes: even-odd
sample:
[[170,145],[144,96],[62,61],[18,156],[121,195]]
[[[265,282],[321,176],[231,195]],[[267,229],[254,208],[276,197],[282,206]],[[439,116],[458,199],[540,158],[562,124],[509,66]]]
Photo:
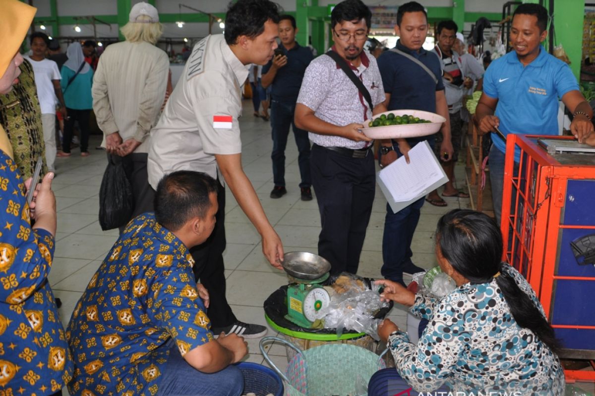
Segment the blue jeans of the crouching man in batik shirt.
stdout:
[[202,373],[186,363],[175,345],[162,376],[157,396],[239,396],[244,390],[244,377],[236,366]]

